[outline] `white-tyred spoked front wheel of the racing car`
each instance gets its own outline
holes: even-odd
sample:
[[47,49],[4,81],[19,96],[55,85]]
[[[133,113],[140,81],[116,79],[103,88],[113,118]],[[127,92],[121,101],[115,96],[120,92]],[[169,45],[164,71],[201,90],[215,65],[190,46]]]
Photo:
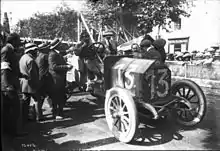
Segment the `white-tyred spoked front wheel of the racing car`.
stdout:
[[127,90],[112,88],[107,91],[105,115],[109,129],[119,141],[132,141],[138,126],[138,117],[134,100]]

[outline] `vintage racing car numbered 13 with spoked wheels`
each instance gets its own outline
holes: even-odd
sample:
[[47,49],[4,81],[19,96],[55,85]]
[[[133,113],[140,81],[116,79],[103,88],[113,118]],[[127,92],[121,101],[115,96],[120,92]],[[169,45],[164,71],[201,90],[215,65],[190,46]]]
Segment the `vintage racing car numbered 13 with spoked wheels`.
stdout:
[[207,107],[205,95],[195,82],[183,79],[171,85],[166,64],[123,55],[104,59],[103,79],[93,85],[91,94],[105,97],[108,127],[125,143],[135,137],[139,115],[159,119],[170,112],[179,124],[194,126],[202,121]]

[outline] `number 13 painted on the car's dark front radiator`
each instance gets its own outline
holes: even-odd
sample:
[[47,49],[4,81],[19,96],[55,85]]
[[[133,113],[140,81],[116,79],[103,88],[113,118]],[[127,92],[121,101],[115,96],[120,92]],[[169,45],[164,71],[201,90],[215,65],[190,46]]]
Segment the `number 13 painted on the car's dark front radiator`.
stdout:
[[[167,69],[158,69],[158,74],[161,75],[161,77],[158,80],[158,86],[155,87],[155,74],[154,71],[151,70],[147,76],[145,77],[146,80],[150,78],[150,93],[151,93],[151,99],[154,98],[155,94],[157,94],[159,97],[165,97],[168,94],[169,89],[169,83],[165,80],[165,77],[167,76]],[[158,90],[159,86],[164,87],[164,92],[160,92]]]

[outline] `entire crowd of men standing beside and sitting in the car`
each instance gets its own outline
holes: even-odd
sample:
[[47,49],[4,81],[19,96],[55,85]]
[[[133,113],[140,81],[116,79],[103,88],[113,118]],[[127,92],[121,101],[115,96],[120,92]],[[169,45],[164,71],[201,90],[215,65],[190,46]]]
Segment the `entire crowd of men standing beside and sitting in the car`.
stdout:
[[[75,86],[90,91],[93,82],[103,77],[102,60],[109,55],[120,55],[113,36],[113,32],[105,32],[104,40],[97,43],[99,46],[93,45],[98,48],[94,51],[86,31],[81,33],[80,42],[67,50],[61,49],[61,40],[58,38],[37,45],[22,42],[16,33],[9,34],[1,48],[2,115],[8,132],[12,135],[26,134],[31,99],[34,101],[36,122],[45,119],[42,105],[46,97],[52,102],[53,119],[63,119],[63,108],[67,100],[67,72],[74,67],[74,63],[68,60],[77,56],[79,80]],[[165,44],[163,39],[153,40],[145,36],[140,47],[132,45],[128,55],[164,62]]]

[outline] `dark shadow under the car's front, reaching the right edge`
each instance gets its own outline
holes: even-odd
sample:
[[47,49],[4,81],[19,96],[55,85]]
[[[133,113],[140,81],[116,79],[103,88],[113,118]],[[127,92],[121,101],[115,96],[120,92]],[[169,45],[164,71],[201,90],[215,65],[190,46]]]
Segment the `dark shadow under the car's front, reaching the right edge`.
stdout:
[[[182,131],[192,131],[196,129],[204,130],[206,133],[202,136],[201,146],[207,150],[220,149],[220,96],[207,95],[207,112],[203,121],[195,127],[187,128],[178,125],[175,119],[169,117],[161,120],[147,120],[141,117],[142,122],[136,139],[132,142],[134,145],[154,146],[168,143],[172,140],[182,140]],[[196,136],[195,136],[196,137]],[[190,138],[189,138],[190,139]],[[195,144],[196,145],[196,144]]]

